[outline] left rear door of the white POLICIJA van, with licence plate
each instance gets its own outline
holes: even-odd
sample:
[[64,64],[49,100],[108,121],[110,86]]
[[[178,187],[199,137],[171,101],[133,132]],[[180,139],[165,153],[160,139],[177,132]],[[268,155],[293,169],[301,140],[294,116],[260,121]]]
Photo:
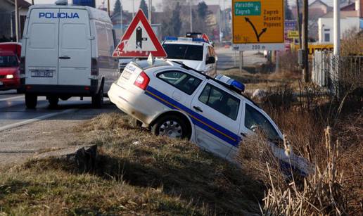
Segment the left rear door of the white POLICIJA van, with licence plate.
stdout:
[[58,84],[58,8],[35,8],[25,34],[26,84]]

